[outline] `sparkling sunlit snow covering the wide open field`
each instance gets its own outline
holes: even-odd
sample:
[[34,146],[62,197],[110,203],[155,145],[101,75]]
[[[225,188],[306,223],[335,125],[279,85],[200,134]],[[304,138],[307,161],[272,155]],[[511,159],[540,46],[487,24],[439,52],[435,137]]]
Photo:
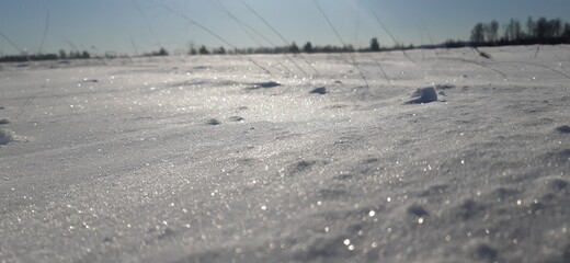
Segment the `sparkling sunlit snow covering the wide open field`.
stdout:
[[2,65],[0,262],[569,262],[570,47],[481,49]]

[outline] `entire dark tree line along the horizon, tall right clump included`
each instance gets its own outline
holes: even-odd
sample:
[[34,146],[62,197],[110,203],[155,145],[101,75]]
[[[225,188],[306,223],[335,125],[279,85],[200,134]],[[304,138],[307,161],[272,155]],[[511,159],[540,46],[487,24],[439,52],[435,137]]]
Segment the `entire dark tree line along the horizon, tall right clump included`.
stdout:
[[[502,32],[500,31],[502,28]],[[442,44],[421,45],[419,48],[455,48],[466,46],[504,46],[504,45],[535,45],[535,44],[570,44],[570,23],[563,22],[560,19],[548,20],[546,18],[539,18],[534,20],[532,16],[528,18],[523,25],[518,20],[511,19],[508,23],[500,25],[495,20],[489,23],[477,23],[472,30],[469,41],[461,39],[448,39]],[[208,49],[202,45],[196,48],[194,44],[190,45],[187,55],[226,55],[226,54],[315,54],[315,53],[366,53],[366,52],[387,52],[387,50],[402,50],[415,48],[413,45],[403,46],[396,44],[392,47],[380,46],[378,38],[374,37],[371,39],[369,45],[364,48],[354,48],[352,45],[345,46],[315,46],[310,42],[307,42],[301,47],[297,46],[296,43],[292,43],[289,46],[277,46],[277,47],[248,47],[248,48],[235,48],[227,50],[224,47]],[[160,47],[156,52],[145,53],[142,56],[168,56],[169,53],[166,48]],[[29,61],[29,60],[53,60],[53,59],[87,59],[91,55],[84,52],[69,52],[59,50],[58,54],[37,54],[37,55],[12,55],[0,57],[0,62],[16,62],[16,61]],[[115,53],[107,52],[104,55],[105,58],[117,57]],[[98,56],[98,58],[101,58]]]

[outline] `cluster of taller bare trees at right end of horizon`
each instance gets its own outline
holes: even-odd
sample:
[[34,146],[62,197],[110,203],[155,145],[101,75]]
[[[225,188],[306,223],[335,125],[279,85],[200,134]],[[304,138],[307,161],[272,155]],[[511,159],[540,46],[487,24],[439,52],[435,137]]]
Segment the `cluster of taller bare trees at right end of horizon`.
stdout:
[[570,44],[570,23],[560,19],[548,20],[532,16],[526,20],[525,25],[511,19],[499,32],[499,22],[477,23],[471,30],[471,44],[476,46],[493,45],[534,45],[534,44]]

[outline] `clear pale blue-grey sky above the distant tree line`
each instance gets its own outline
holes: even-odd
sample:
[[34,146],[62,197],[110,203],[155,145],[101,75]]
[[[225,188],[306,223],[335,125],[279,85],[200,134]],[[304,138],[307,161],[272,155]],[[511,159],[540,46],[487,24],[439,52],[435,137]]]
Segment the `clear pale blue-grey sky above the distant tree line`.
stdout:
[[[299,46],[341,43],[312,0],[243,0],[288,42]],[[477,22],[511,18],[559,18],[570,22],[569,0],[317,0],[346,44],[367,46],[372,37],[392,46],[371,12],[399,42],[415,45],[468,39]],[[219,5],[254,27],[274,44],[284,45],[241,0],[0,0],[0,32],[29,53],[59,49],[135,54],[164,46],[171,53],[189,44],[228,45],[171,10],[203,24],[233,46],[259,45]],[[168,7],[168,8],[167,8]],[[47,26],[46,26],[47,25]],[[45,28],[47,33],[44,36]],[[44,42],[42,42],[44,39]],[[259,42],[271,46],[263,39]],[[42,43],[44,43],[42,45]],[[0,37],[0,55],[19,50]]]

